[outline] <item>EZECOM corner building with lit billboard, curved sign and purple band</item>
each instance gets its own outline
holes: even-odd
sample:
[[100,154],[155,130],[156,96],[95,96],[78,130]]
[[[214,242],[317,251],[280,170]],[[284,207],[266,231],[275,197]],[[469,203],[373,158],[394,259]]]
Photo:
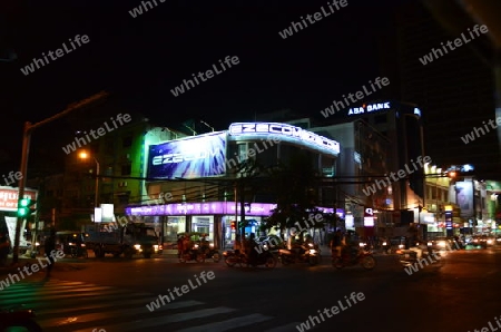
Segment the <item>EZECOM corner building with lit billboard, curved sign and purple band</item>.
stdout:
[[[256,233],[275,206],[273,197],[259,191],[259,182],[265,179],[253,172],[243,173],[243,162],[268,167],[303,150],[322,172],[334,169],[340,154],[337,141],[283,123],[235,123],[223,131],[149,141],[147,149],[146,196],[157,201],[128,206],[126,214],[161,225],[167,244],[175,243],[178,233],[203,232],[219,246],[235,241],[232,222],[243,222],[244,216],[245,232]],[[240,186],[243,182],[245,186]],[[163,202],[160,194],[168,194],[170,202]]]

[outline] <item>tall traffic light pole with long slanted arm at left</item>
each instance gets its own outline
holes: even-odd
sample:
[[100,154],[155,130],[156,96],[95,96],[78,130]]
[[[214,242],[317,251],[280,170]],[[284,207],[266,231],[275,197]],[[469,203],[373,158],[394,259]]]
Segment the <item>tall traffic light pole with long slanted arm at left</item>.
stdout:
[[[35,125],[32,125],[29,121],[24,123],[24,129],[22,133],[22,155],[21,155],[21,166],[19,167],[19,170],[21,172],[21,178],[19,179],[19,192],[18,192],[18,198],[22,199],[24,196],[24,186],[26,186],[26,179],[28,176],[28,156],[29,156],[29,152],[30,152],[30,141],[31,141],[31,133],[43,126],[47,125],[56,119],[59,119],[63,116],[66,116],[67,114],[69,114],[70,111],[78,109],[82,106],[86,106],[90,102],[94,102],[96,100],[99,100],[104,97],[108,96],[108,92],[106,91],[101,91],[99,94],[96,94],[87,99],[84,99],[81,101],[78,102],[73,102],[70,106],[68,106],[68,108],[66,108],[63,111],[47,118],[45,120],[41,120],[40,123],[37,123]],[[13,255],[12,255],[12,263],[18,263],[19,262],[19,240],[20,240],[20,235],[21,235],[21,225],[22,225],[22,216],[18,215],[18,222],[16,224],[16,237],[14,237],[14,246],[13,246]]]

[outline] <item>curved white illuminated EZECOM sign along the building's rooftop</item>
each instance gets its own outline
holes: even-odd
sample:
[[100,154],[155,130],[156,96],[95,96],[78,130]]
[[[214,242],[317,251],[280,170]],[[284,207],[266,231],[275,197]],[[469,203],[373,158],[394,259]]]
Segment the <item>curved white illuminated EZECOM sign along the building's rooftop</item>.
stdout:
[[337,141],[287,124],[238,123],[232,124],[229,126],[229,135],[237,136],[246,134],[263,134],[263,135],[268,134],[268,135],[287,136],[318,147],[333,150],[336,154],[340,153],[340,144]]

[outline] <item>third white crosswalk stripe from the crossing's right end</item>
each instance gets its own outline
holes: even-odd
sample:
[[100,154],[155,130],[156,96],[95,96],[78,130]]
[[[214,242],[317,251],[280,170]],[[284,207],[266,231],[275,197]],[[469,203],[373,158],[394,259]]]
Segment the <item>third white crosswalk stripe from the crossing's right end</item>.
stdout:
[[[136,320],[132,322],[121,323],[121,324],[115,324],[115,325],[105,325],[102,329],[105,329],[107,332],[126,332],[126,331],[146,331],[147,328],[155,328],[159,325],[165,325],[167,323],[177,323],[177,322],[185,322],[194,319],[203,319],[208,318],[216,314],[224,314],[234,312],[236,309],[232,307],[225,307],[225,306],[218,306],[218,307],[210,307],[210,309],[202,309],[197,311],[190,311],[185,313],[176,313],[171,315],[164,315],[164,316],[154,316],[147,320]],[[80,331],[73,331],[73,332],[89,332],[89,329],[87,330],[80,330]]]

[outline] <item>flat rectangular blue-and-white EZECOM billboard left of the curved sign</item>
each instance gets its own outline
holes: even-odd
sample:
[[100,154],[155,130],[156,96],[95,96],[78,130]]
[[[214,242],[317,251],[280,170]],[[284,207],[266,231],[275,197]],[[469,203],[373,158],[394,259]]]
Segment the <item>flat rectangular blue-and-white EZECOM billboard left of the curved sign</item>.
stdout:
[[198,178],[226,172],[226,133],[170,140],[149,146],[148,177]]

